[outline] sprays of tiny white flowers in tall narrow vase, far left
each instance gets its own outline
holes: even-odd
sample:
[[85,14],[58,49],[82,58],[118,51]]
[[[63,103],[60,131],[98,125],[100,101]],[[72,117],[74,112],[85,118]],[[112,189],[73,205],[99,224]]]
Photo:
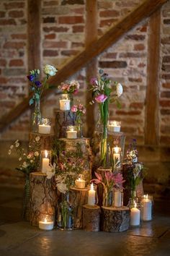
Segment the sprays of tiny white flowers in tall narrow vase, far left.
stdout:
[[16,151],[18,155],[19,167],[17,171],[21,171],[25,176],[24,184],[24,203],[22,210],[22,217],[27,217],[27,210],[29,210],[30,200],[30,173],[36,171],[40,164],[40,137],[35,137],[32,144],[29,145],[29,153],[22,148],[19,140],[16,140],[9,148],[8,154],[11,155],[12,151]]

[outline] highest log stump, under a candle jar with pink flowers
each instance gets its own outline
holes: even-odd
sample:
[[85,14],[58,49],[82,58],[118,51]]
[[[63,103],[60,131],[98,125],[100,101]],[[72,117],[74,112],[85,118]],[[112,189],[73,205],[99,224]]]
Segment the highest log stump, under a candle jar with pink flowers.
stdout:
[[66,137],[66,129],[75,124],[75,114],[71,111],[55,110],[55,136]]

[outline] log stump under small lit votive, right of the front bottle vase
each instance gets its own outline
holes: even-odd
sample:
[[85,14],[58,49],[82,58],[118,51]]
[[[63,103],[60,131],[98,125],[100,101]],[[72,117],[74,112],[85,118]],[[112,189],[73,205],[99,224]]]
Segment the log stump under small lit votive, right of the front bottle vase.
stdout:
[[69,191],[70,202],[74,208],[74,227],[83,227],[83,205],[88,202],[88,189],[77,189],[72,187]]

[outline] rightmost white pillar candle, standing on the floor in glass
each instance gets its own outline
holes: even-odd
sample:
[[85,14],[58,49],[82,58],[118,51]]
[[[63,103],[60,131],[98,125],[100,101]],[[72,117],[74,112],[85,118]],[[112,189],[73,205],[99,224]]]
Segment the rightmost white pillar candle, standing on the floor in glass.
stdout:
[[141,219],[143,221],[151,221],[152,219],[152,201],[148,198],[148,195],[144,195],[141,203]]

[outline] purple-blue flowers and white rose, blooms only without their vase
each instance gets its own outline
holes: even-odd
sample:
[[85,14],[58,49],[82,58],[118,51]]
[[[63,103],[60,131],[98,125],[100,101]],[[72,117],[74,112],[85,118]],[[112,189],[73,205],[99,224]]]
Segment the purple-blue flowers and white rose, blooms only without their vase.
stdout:
[[32,98],[30,99],[30,105],[35,103],[36,101],[40,101],[40,97],[42,95],[42,91],[44,89],[48,89],[49,85],[47,83],[47,80],[49,77],[52,77],[58,72],[58,69],[55,67],[46,64],[44,69],[44,73],[46,74],[45,79],[43,82],[40,82],[40,69],[34,69],[30,71],[30,75],[27,76],[28,80],[31,82],[31,90],[32,90]]

